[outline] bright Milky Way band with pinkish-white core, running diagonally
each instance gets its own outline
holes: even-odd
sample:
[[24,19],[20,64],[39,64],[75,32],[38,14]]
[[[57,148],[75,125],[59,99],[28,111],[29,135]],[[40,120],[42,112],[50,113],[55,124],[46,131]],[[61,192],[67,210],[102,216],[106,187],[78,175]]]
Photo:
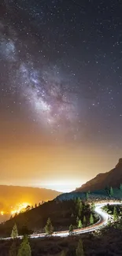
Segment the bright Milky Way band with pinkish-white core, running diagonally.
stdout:
[[41,55],[35,65],[35,59],[28,54],[13,28],[3,22],[0,28],[0,54],[5,69],[9,70],[8,90],[29,102],[33,121],[42,124],[48,132],[74,135],[79,121],[78,98],[68,78],[57,65],[43,61]]

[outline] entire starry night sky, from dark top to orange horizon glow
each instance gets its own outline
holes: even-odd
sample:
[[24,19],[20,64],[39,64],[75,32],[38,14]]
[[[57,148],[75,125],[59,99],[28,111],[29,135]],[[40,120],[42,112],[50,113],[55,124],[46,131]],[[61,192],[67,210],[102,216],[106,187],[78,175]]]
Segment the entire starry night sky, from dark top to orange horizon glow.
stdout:
[[1,184],[70,191],[122,156],[122,2],[1,2]]

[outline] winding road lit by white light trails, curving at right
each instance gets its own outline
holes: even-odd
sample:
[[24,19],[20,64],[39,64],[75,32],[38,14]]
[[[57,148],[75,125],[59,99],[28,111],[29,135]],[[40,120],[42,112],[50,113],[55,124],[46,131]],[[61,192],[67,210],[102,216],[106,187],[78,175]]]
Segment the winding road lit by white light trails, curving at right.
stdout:
[[[99,220],[97,223],[87,227],[87,228],[79,228],[79,229],[75,229],[72,234],[74,235],[79,235],[79,234],[83,234],[83,233],[87,233],[87,232],[93,232],[95,230],[97,230],[98,228],[102,228],[103,226],[105,226],[105,224],[108,223],[108,220],[109,220],[109,214],[108,213],[105,213],[103,210],[102,210],[102,207],[103,206],[106,206],[107,204],[110,204],[110,205],[117,205],[117,204],[122,204],[122,202],[102,202],[102,203],[98,203],[98,204],[95,204],[95,209],[94,209],[94,212],[98,214],[99,216]],[[46,237],[46,233],[39,233],[39,234],[33,234],[33,235],[30,235],[29,237],[32,239],[32,238],[39,238],[39,237]],[[61,232],[54,232],[53,235],[51,236],[59,236],[59,237],[66,237],[66,236],[69,236],[69,232],[68,230],[66,231],[61,231]],[[49,237],[49,236],[48,236]],[[19,239],[22,239],[23,236],[18,236]],[[0,238],[1,240],[9,240],[9,239],[12,239],[11,237],[7,237],[7,238]]]

